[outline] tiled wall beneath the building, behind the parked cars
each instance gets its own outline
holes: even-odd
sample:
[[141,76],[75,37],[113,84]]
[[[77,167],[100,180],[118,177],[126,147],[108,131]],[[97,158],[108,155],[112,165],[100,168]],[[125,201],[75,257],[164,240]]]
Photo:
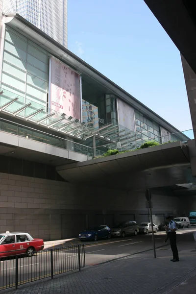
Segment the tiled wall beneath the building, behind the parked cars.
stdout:
[[[154,213],[171,213],[178,206],[177,197],[152,198]],[[77,236],[96,221],[111,223],[125,214],[134,214],[137,220],[141,212],[147,213],[144,193],[0,173],[0,232],[24,231],[44,240],[64,239]]]

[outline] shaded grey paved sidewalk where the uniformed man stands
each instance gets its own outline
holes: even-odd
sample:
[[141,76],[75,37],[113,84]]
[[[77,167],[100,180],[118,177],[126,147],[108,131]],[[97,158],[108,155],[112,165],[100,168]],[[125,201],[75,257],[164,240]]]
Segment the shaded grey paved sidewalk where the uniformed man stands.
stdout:
[[153,251],[148,251],[2,293],[195,294],[196,290],[192,291],[194,287],[196,289],[194,243],[181,242],[178,249],[180,262],[170,261],[172,252],[167,246],[157,250],[156,259],[153,258]]

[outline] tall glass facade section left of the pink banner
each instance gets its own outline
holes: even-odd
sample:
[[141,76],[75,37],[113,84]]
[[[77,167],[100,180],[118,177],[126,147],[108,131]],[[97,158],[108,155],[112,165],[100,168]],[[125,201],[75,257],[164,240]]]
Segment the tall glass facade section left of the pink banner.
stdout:
[[17,32],[6,29],[1,88],[24,97],[24,101],[28,99],[46,106],[48,81],[47,52]]

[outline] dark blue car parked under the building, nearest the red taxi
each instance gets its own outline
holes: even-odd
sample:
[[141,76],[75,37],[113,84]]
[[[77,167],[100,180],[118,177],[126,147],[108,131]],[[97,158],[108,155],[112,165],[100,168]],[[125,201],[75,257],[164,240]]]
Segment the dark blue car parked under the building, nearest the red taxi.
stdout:
[[110,228],[107,225],[92,226],[79,234],[80,241],[110,239]]

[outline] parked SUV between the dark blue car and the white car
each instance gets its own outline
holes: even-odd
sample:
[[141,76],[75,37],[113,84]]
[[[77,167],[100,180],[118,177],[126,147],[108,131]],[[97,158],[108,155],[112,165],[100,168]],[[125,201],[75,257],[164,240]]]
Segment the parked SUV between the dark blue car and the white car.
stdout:
[[122,236],[123,238],[127,235],[137,235],[139,228],[136,221],[124,221],[111,228],[111,235]]

